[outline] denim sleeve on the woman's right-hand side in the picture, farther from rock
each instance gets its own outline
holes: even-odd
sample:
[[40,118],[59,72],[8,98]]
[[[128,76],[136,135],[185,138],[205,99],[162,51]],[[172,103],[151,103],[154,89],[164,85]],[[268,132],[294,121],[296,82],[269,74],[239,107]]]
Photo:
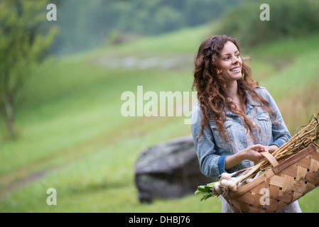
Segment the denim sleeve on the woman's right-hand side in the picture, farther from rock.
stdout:
[[291,135],[271,94],[264,87],[261,87],[259,91],[261,92],[261,96],[269,102],[271,109],[276,113],[275,123],[272,123],[273,142],[269,145],[276,145],[280,148],[283,143],[286,143],[291,138]]

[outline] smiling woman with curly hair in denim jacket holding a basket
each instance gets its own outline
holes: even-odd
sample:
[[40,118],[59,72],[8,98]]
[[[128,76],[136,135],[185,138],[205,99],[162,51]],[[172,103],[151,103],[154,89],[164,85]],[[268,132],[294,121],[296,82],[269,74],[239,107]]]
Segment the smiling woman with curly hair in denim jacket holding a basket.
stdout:
[[[195,57],[192,133],[200,170],[207,177],[235,172],[259,162],[259,152],[273,153],[291,135],[274,99],[252,79],[239,53],[239,45],[227,35],[202,42]],[[222,198],[222,212],[233,212]],[[301,212],[298,201],[281,212]]]

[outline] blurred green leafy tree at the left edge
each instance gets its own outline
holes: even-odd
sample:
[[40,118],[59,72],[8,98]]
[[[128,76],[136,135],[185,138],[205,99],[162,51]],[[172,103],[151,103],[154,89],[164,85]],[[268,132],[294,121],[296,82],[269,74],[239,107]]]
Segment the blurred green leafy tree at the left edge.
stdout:
[[0,3],[0,113],[9,138],[16,135],[13,123],[18,93],[58,32],[57,27],[50,28],[46,35],[39,32],[46,21],[47,4],[47,0]]

